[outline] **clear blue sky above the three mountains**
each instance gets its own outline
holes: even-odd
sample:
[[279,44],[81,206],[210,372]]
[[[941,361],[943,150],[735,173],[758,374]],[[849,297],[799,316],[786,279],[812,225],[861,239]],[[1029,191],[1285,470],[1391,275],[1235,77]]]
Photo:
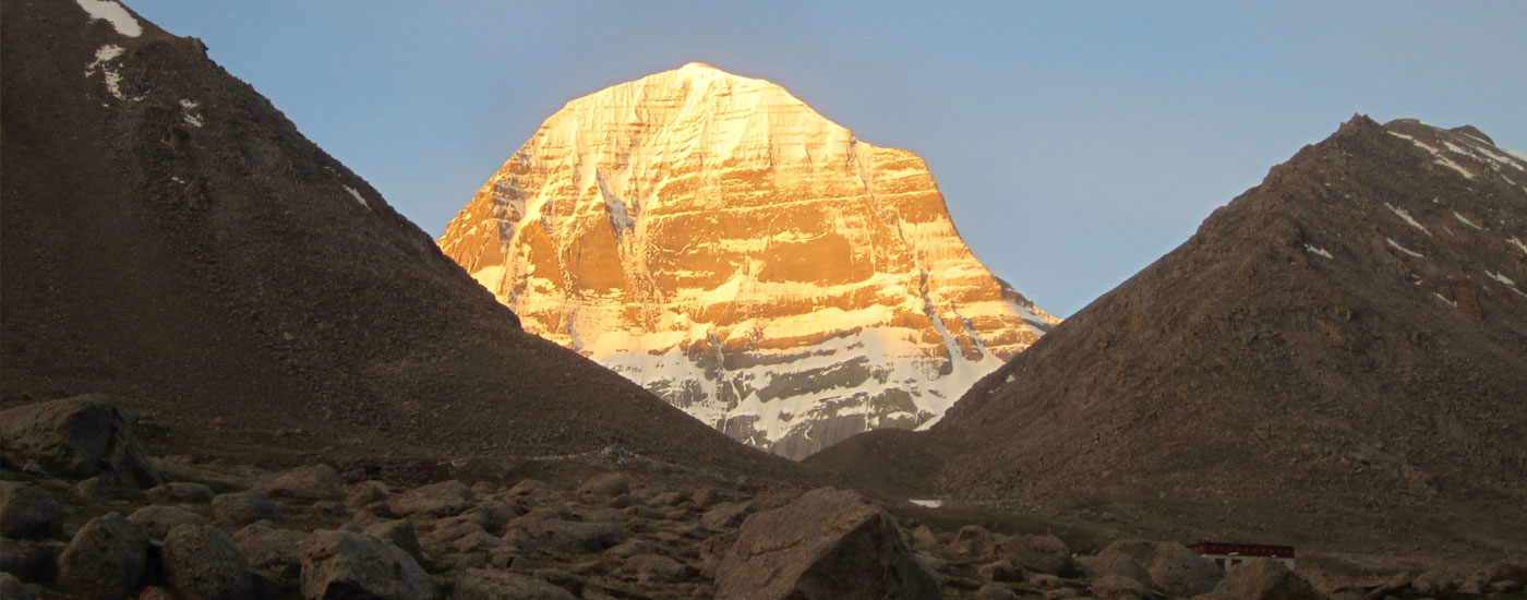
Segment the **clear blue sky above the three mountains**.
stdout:
[[1069,316],[1353,113],[1527,150],[1527,2],[127,0],[431,235],[563,102],[701,61],[928,162]]

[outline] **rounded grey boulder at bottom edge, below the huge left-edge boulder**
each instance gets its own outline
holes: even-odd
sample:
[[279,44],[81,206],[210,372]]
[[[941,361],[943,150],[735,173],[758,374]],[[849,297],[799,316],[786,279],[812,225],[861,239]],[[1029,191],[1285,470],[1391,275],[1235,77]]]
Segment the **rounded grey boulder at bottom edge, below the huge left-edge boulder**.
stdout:
[[148,563],[148,536],[122,515],[90,519],[58,554],[58,589],[104,598],[137,591]]

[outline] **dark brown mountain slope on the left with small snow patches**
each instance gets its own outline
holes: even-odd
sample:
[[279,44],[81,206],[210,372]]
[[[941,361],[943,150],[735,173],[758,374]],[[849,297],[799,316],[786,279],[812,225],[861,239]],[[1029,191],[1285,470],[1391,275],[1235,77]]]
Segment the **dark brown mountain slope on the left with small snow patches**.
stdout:
[[0,8],[5,405],[113,392],[214,455],[794,469],[521,331],[199,40],[108,0]]

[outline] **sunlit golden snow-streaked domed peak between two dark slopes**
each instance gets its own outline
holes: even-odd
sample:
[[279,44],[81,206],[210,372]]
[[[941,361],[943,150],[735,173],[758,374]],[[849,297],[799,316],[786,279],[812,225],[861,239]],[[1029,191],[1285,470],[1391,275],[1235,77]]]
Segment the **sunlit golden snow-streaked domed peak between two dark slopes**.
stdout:
[[793,458],[939,418],[1058,322],[919,157],[698,63],[568,102],[438,244],[525,331]]

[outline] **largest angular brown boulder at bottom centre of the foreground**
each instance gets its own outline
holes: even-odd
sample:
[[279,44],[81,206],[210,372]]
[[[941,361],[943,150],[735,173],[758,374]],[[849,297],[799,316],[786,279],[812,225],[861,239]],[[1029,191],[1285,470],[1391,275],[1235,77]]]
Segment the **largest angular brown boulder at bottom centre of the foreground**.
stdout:
[[884,508],[817,489],[750,516],[716,571],[718,598],[939,598]]

